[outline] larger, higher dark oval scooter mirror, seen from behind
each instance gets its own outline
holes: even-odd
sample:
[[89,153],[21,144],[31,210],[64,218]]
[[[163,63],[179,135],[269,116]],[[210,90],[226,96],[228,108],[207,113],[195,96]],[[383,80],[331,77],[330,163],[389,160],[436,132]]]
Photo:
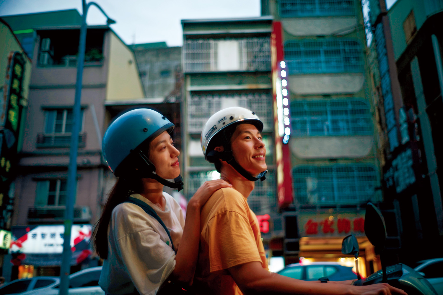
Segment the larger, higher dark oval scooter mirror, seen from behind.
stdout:
[[385,248],[386,225],[383,215],[372,203],[366,205],[365,234],[378,251]]

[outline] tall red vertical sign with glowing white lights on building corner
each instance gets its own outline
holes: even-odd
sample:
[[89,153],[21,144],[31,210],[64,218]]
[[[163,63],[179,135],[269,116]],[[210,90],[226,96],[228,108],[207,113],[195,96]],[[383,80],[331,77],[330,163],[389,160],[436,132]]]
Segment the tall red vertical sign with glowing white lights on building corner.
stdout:
[[[280,62],[284,60],[282,28],[280,22],[272,23],[271,58],[272,58],[272,98],[274,111],[274,135],[277,166],[277,196],[280,208],[287,207],[293,201],[291,177],[291,152],[289,145],[283,144],[284,140],[284,96],[282,87],[282,69]],[[284,70],[284,75],[287,75]],[[285,77],[286,78],[286,77]],[[286,81],[288,79],[285,79]],[[289,105],[289,103],[288,103]],[[280,110],[279,110],[280,106]],[[279,118],[280,117],[280,118]],[[283,124],[283,125],[281,125]],[[281,135],[280,135],[281,134]]]

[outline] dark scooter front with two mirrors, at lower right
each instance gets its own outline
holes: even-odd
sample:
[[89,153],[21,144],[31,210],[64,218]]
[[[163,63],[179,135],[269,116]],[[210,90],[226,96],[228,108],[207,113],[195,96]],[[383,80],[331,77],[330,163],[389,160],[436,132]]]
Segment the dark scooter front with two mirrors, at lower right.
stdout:
[[346,236],[342,242],[342,253],[354,255],[358,280],[353,283],[356,286],[366,286],[377,283],[389,283],[392,287],[404,290],[408,295],[437,295],[434,287],[418,271],[405,264],[395,264],[386,267],[383,250],[386,241],[385,219],[380,210],[373,204],[366,205],[365,234],[369,242],[375,247],[376,253],[380,253],[382,269],[361,279],[358,273],[357,258],[359,254],[358,241],[354,235]]

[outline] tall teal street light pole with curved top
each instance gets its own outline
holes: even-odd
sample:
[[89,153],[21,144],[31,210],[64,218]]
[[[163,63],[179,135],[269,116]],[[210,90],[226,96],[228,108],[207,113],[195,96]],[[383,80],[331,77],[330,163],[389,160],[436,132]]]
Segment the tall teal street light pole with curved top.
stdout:
[[86,15],[88,13],[89,6],[95,5],[106,16],[106,24],[115,24],[116,22],[108,17],[108,15],[101,9],[101,7],[95,2],[89,2],[86,4],[86,0],[82,0],[82,26],[80,28],[80,42],[78,45],[78,59],[77,59],[77,80],[75,84],[75,99],[74,99],[74,124],[71,130],[71,145],[69,154],[69,166],[68,166],[68,196],[66,200],[65,210],[65,233],[63,235],[63,255],[62,255],[62,267],[60,268],[60,295],[68,295],[69,287],[69,275],[71,266],[71,228],[74,219],[74,204],[77,193],[77,152],[78,152],[78,133],[81,126],[81,109],[80,101],[82,97],[82,79],[83,79],[83,66],[85,62],[85,48],[86,48]]

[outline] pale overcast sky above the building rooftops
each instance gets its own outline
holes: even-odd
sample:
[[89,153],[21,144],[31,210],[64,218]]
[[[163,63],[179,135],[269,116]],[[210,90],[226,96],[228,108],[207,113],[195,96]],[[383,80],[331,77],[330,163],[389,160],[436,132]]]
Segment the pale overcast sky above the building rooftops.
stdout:
[[[87,2],[89,2],[87,0]],[[127,44],[166,41],[182,46],[180,20],[260,16],[260,0],[94,0],[117,21],[111,28]],[[0,16],[76,8],[82,0],[0,0]],[[87,24],[105,24],[106,18],[94,6]]]

